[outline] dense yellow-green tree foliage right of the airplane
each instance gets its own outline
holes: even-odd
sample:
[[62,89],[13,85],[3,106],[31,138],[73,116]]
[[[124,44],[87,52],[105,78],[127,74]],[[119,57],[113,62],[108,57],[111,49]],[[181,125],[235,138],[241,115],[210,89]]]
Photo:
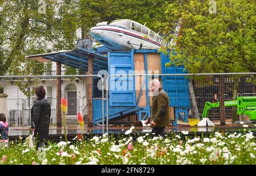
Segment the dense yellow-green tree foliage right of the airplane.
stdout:
[[176,1],[168,5],[165,32],[180,19],[182,31],[170,35],[177,55],[175,65],[183,64],[191,73],[255,72],[255,1],[216,0],[217,13],[209,13],[209,1]]

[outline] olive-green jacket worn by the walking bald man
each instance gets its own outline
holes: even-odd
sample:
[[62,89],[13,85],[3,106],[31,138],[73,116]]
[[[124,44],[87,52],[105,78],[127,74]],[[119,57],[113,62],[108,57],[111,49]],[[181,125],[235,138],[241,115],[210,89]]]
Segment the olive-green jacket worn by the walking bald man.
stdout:
[[159,88],[157,96],[152,98],[150,122],[156,123],[155,127],[167,127],[170,125],[169,97],[162,88]]

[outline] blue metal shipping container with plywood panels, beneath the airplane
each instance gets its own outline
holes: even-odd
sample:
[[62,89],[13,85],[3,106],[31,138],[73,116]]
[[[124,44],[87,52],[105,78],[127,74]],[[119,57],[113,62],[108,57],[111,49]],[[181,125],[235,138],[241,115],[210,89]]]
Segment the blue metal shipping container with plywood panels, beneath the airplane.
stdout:
[[[180,74],[187,73],[184,66],[165,67],[170,62],[169,55],[158,50],[132,50],[130,52],[109,52],[109,75],[120,74]],[[134,71],[137,72],[134,72]],[[164,91],[170,97],[170,106],[175,117],[188,116],[189,87],[185,76],[159,76]],[[148,78],[146,76],[116,76],[109,80],[109,119],[135,113],[138,120],[150,117],[151,98],[148,95]],[[101,123],[100,99],[93,100],[93,121]],[[105,104],[106,111],[106,104]],[[182,117],[182,115],[181,115]],[[174,117],[173,117],[174,118]]]

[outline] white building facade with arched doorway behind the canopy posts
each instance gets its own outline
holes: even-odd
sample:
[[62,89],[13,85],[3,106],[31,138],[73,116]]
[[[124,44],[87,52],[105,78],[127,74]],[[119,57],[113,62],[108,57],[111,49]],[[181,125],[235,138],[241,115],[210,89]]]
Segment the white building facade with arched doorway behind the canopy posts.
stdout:
[[[56,63],[53,62],[51,72],[44,72],[43,75],[56,75]],[[65,74],[65,70],[61,72],[61,75]],[[74,78],[76,76],[74,75]],[[28,98],[22,91],[20,91],[18,85],[15,84],[15,80],[0,80],[1,91],[6,93],[7,97],[7,111],[6,114],[10,126],[28,126],[30,123],[30,109],[36,95]],[[46,98],[51,103],[51,122],[52,126],[56,125],[56,94],[57,84],[56,79],[40,79],[39,84],[35,87],[43,85],[46,90]],[[31,87],[32,89],[32,87]],[[67,119],[77,122],[77,113],[81,113],[83,116],[87,115],[86,111],[86,78],[75,79],[61,79],[61,97],[68,100]],[[59,100],[60,101],[60,100]],[[1,112],[0,112],[1,113]]]

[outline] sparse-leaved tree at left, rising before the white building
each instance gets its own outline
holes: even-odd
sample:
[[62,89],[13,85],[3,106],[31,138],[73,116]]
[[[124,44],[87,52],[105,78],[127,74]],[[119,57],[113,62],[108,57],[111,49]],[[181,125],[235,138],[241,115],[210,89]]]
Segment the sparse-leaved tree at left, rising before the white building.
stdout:
[[[75,48],[75,6],[70,1],[45,2],[46,13],[40,13],[37,1],[0,1],[0,75],[42,75],[47,65],[26,55]],[[27,84],[15,83],[31,96]]]

